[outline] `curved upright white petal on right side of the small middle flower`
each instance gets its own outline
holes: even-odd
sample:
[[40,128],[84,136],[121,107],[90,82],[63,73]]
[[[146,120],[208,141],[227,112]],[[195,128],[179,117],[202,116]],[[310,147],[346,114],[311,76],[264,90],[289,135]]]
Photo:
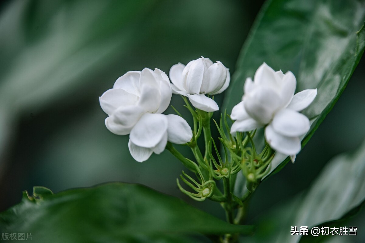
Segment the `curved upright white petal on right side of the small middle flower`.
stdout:
[[204,91],[204,93],[213,94],[223,87],[227,78],[227,70],[220,61],[217,61],[208,68],[208,72],[209,88],[207,91]]

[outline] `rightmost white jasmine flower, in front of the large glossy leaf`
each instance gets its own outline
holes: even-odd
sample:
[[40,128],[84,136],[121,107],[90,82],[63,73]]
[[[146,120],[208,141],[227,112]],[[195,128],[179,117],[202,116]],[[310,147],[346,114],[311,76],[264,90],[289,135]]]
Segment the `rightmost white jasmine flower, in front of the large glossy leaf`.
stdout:
[[312,103],[317,89],[306,89],[294,95],[296,79],[292,72],[275,72],[263,63],[244,85],[242,101],[232,109],[236,120],[231,133],[265,127],[265,138],[274,150],[290,155],[292,160],[301,149],[299,137],[310,128],[309,119],[299,113]]

